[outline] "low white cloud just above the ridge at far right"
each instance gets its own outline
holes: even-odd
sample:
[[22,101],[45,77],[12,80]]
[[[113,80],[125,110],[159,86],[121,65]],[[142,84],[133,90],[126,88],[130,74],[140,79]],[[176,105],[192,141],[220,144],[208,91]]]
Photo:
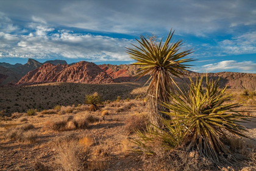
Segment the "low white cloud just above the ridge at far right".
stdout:
[[235,69],[237,72],[256,72],[256,63],[253,61],[226,60],[194,68],[196,72],[221,72]]

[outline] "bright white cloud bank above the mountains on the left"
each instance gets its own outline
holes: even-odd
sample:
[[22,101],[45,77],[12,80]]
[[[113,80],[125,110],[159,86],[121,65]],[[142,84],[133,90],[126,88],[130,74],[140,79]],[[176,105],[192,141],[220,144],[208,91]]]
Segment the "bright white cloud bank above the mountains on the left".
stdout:
[[0,32],[0,53],[4,57],[21,58],[84,58],[88,61],[130,61],[126,46],[132,40],[101,35],[73,33],[46,26],[32,27],[27,35]]

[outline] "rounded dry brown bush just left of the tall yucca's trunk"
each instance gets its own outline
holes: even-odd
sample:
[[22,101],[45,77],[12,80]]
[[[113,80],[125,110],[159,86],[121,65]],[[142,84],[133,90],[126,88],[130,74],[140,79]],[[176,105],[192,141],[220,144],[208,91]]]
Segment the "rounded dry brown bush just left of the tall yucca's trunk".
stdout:
[[146,113],[137,113],[126,119],[125,130],[127,133],[134,133],[135,130],[146,130]]

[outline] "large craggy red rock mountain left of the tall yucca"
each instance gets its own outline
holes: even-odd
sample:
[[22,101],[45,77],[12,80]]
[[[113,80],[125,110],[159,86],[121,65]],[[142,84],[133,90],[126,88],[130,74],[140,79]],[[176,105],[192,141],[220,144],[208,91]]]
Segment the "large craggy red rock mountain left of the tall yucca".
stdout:
[[27,73],[16,85],[49,82],[101,84],[113,83],[114,80],[96,64],[80,61],[72,66],[46,63]]

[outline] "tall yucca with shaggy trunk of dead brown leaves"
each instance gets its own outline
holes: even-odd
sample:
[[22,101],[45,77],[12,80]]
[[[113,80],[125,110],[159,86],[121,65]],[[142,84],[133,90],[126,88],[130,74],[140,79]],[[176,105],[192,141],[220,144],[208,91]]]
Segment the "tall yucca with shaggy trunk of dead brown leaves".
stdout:
[[133,65],[140,66],[138,79],[144,75],[150,75],[147,91],[151,110],[149,120],[156,126],[163,125],[162,117],[168,118],[165,114],[159,112],[165,111],[165,108],[158,105],[158,102],[169,102],[168,92],[173,91],[172,83],[174,83],[172,76],[180,77],[180,75],[184,75],[183,71],[189,65],[183,63],[193,61],[191,58],[182,59],[192,53],[191,49],[180,51],[180,46],[183,44],[182,40],[170,43],[173,33],[172,30],[169,32],[165,43],[162,43],[163,39],[158,42],[156,37],[147,40],[141,35],[140,40],[136,39],[140,46],[132,44],[133,48],[127,48],[130,58],[137,61]]

